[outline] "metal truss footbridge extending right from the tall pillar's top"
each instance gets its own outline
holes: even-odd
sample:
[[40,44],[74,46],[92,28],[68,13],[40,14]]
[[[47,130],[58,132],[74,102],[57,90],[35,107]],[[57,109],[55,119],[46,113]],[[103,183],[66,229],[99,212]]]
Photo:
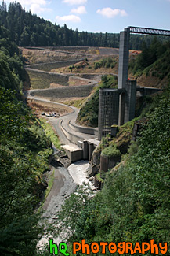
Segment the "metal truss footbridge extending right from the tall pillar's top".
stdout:
[[148,35],[166,35],[170,36],[170,31],[165,29],[157,28],[139,28],[139,27],[128,27],[130,33],[137,34],[148,34]]

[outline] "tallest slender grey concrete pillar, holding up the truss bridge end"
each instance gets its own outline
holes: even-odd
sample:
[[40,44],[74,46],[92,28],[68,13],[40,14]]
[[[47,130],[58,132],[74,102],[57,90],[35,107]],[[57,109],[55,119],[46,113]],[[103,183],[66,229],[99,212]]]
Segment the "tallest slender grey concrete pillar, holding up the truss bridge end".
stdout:
[[[118,64],[118,89],[126,87],[128,80],[128,55],[129,55],[129,28],[120,32],[119,64]],[[120,95],[118,125],[124,124],[125,119],[125,94]]]

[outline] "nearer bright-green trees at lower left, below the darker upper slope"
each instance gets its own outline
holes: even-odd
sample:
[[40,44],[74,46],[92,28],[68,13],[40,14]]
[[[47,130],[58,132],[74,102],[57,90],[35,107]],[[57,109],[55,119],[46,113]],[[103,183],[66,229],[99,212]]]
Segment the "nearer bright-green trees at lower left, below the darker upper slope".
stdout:
[[3,255],[30,255],[42,229],[38,227],[39,216],[32,213],[42,193],[44,165],[26,143],[30,117],[24,115],[22,103],[4,88],[0,98],[0,248]]

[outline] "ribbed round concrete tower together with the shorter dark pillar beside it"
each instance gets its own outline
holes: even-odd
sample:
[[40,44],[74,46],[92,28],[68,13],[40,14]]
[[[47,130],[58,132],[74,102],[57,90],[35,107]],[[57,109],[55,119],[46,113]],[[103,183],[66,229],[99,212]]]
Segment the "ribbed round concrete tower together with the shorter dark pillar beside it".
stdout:
[[[120,102],[122,104],[120,110]],[[128,80],[122,89],[99,90],[99,128],[98,139],[106,137],[111,132],[113,124],[119,124],[123,116],[123,123],[135,117],[136,80]]]

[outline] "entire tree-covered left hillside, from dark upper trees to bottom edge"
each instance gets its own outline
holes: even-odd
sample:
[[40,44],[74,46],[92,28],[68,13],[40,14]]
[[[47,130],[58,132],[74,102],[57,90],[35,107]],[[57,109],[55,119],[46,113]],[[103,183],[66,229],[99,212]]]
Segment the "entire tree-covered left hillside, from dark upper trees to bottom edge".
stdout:
[[0,29],[0,251],[30,256],[43,228],[34,208],[46,187],[42,173],[49,170],[52,149],[21,100],[20,52]]

